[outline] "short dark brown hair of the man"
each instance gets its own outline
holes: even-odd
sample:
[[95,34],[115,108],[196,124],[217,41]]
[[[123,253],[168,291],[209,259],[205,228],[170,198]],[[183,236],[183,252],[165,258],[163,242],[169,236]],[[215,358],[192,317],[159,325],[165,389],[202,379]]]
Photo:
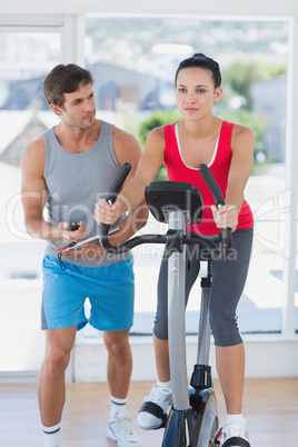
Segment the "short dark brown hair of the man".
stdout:
[[90,71],[74,63],[56,66],[43,82],[43,95],[48,105],[62,107],[64,93],[73,93],[79,89],[80,83],[93,85]]

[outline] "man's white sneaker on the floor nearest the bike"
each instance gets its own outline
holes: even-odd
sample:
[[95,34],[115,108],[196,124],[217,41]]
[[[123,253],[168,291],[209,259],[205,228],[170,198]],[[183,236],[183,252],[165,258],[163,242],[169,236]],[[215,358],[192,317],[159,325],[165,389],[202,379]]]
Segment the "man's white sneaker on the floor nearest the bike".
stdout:
[[143,446],[143,443],[133,427],[133,424],[129,419],[128,415],[122,411],[118,411],[115,420],[109,423],[107,437],[116,440],[118,447]]

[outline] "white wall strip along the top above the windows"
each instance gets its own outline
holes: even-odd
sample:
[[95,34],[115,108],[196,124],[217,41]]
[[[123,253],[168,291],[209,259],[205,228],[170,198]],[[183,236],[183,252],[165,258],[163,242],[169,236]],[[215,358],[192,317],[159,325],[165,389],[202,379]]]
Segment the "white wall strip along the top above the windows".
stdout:
[[197,1],[185,0],[172,2],[170,0],[111,0],[111,1],[95,1],[95,0],[51,0],[41,2],[40,0],[10,0],[2,2],[0,13],[85,13],[85,12],[101,12],[101,13],[150,13],[150,14],[200,14],[200,16],[258,16],[258,17],[297,17],[298,2],[296,0],[209,0]]

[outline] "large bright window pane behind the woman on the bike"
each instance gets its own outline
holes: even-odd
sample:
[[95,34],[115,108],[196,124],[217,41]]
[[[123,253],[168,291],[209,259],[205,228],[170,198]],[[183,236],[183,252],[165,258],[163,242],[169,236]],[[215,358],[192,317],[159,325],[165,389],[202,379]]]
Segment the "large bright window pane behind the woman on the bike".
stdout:
[[[203,52],[219,62],[224,95],[215,115],[249,126],[256,133],[255,167],[247,187],[256,237],[239,306],[240,327],[242,332],[280,331],[280,272],[286,256],[282,200],[287,23],[196,17],[88,17],[86,24],[86,62],[95,76],[98,116],[109,112],[110,120],[132,132],[142,146],[142,127],[150,128],[152,123],[146,121],[150,117],[156,126],[181,119],[173,89],[179,61]],[[165,171],[161,177],[166,178]],[[151,225],[150,220],[142,232],[150,230]],[[159,266],[157,249],[152,250],[143,246],[135,251],[137,314],[132,331],[152,330]],[[198,292],[196,285],[187,312],[189,332],[197,331]]]

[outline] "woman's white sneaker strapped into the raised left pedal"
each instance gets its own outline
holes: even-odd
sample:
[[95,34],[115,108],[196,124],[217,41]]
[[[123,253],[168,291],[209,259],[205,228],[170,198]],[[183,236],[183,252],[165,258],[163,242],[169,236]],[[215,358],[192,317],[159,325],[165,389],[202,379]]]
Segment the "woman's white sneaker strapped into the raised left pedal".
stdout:
[[143,399],[138,415],[138,426],[143,430],[155,430],[165,427],[167,409],[172,403],[170,388],[162,388],[155,384],[150,395]]

